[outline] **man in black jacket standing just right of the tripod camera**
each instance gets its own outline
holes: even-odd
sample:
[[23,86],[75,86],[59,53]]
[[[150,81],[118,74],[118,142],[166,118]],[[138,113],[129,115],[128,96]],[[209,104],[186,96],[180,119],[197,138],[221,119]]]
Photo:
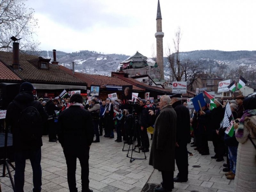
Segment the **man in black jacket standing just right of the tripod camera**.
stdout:
[[142,152],[149,152],[149,139],[147,128],[150,125],[148,122],[148,107],[146,105],[146,100],[140,100],[140,116],[139,116],[139,125],[140,125],[140,139],[142,146]]

